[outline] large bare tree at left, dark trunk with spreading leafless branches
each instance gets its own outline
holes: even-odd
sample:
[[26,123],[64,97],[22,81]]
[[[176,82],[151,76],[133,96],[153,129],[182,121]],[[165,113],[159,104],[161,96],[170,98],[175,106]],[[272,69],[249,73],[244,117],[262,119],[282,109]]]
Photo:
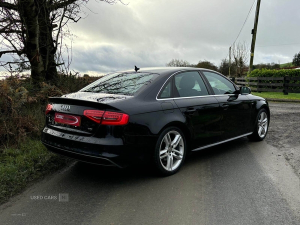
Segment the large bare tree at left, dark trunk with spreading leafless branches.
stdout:
[[[121,0],[103,0],[114,4]],[[30,68],[31,82],[51,80],[57,66],[64,64],[62,41],[67,24],[77,22],[88,0],[0,0],[0,57],[12,60],[1,66]],[[70,60],[69,60],[70,61]],[[68,67],[64,65],[65,67]]]

